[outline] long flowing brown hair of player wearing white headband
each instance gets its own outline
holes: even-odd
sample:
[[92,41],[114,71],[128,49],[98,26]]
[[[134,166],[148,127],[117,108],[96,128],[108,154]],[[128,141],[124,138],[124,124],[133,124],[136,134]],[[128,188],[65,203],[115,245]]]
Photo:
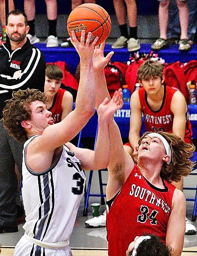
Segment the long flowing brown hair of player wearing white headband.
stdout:
[[[139,139],[138,144],[140,145],[142,139],[151,132],[145,132]],[[161,134],[170,145],[172,157],[170,164],[163,163],[160,176],[169,181],[179,181],[181,176],[188,176],[195,166],[190,158],[193,156],[195,147],[193,144],[186,143],[177,135],[170,132],[158,132]]]

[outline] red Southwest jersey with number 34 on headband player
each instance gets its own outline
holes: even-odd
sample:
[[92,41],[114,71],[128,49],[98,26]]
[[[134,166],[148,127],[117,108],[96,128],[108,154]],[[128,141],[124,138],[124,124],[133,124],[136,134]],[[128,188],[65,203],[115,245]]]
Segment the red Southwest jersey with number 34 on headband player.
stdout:
[[159,189],[135,165],[121,191],[107,202],[108,255],[125,256],[129,244],[143,232],[156,234],[165,243],[175,186],[162,180]]

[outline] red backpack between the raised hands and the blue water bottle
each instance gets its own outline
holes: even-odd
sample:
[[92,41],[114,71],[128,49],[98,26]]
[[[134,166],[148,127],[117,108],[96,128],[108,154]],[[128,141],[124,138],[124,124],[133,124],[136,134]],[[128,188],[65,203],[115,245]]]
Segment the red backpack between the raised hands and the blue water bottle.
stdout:
[[125,84],[125,73],[127,70],[127,64],[119,61],[109,62],[105,68],[105,79],[110,96],[114,95],[114,92]]

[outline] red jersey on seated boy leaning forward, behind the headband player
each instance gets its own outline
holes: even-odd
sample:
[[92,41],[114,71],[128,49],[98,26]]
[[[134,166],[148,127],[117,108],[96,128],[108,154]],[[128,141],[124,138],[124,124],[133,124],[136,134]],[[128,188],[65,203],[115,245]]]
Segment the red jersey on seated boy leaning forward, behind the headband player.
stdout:
[[[158,111],[153,111],[148,105],[147,93],[144,88],[138,90],[139,101],[141,105],[141,111],[144,114],[144,122],[146,131],[165,131],[173,132],[173,118],[174,115],[170,110],[171,100],[174,93],[177,91],[176,88],[164,86],[164,97],[161,104],[161,108]],[[187,118],[187,124],[185,128],[184,140],[187,143],[191,143],[191,124]]]

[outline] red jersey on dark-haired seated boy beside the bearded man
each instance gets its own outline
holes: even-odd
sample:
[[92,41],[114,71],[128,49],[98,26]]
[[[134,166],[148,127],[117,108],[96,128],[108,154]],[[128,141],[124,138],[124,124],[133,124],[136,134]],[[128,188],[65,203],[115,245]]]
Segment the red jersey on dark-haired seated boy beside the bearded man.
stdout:
[[59,89],[56,93],[52,106],[48,109],[52,112],[52,118],[54,120],[54,124],[57,124],[61,121],[62,118],[62,98],[66,90]]

